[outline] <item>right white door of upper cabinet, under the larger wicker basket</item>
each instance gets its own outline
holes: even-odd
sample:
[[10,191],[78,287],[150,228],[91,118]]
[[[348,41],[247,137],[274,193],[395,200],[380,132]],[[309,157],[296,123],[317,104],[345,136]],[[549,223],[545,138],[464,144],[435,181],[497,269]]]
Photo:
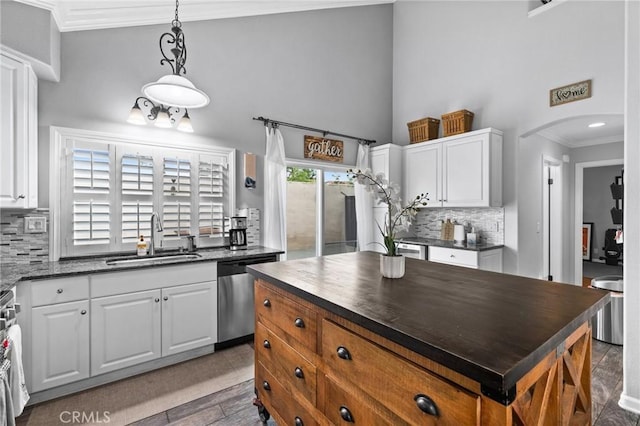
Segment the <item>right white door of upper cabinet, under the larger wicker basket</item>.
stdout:
[[489,136],[443,144],[443,206],[489,205]]

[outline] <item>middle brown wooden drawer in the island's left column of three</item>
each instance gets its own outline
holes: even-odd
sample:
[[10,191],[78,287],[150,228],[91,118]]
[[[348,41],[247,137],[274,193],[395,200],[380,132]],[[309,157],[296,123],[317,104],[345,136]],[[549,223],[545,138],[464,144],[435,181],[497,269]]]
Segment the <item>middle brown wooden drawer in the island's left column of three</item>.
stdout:
[[316,367],[261,323],[256,324],[257,358],[289,392],[292,389],[316,405]]

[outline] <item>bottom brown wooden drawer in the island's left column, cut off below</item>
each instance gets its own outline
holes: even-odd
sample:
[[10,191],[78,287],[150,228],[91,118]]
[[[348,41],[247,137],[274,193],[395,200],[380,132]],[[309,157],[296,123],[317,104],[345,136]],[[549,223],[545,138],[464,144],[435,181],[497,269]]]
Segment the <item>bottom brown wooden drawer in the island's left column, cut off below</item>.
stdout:
[[[256,363],[255,386],[258,398],[277,412],[287,425],[317,425],[315,416],[311,415],[301,404],[292,398],[284,386],[261,363]],[[300,420],[297,420],[300,419]]]

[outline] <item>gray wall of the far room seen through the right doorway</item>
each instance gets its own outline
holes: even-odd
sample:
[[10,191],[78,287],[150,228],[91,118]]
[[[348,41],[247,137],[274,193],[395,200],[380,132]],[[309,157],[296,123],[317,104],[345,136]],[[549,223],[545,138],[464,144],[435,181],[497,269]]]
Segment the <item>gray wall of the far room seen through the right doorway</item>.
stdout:
[[611,220],[611,208],[615,201],[611,198],[611,185],[616,176],[622,175],[622,166],[590,167],[584,169],[583,213],[585,222],[593,222],[591,256],[597,260],[603,255],[604,233],[610,228],[620,228]]

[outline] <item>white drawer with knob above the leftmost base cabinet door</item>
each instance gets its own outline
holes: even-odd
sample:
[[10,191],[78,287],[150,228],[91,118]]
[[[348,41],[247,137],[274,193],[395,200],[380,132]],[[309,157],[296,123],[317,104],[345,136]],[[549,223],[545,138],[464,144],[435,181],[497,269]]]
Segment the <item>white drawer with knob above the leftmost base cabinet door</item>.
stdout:
[[44,306],[89,298],[89,278],[55,278],[31,282],[31,305]]

